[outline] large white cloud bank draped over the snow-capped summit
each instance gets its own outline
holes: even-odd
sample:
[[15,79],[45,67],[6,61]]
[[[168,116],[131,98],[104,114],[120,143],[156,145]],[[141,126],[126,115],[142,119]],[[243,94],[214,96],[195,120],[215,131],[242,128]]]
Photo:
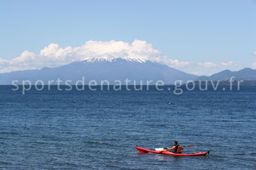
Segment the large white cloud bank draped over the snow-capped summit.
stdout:
[[56,43],[50,43],[41,49],[39,54],[24,51],[17,58],[4,60],[0,58],[0,73],[14,70],[40,69],[41,67],[57,67],[72,61],[102,58],[136,59],[139,61],[157,61],[170,67],[184,67],[186,61],[178,61],[161,54],[161,52],[144,40],[134,40],[133,43],[123,41],[90,40],[81,46],[61,48]]

